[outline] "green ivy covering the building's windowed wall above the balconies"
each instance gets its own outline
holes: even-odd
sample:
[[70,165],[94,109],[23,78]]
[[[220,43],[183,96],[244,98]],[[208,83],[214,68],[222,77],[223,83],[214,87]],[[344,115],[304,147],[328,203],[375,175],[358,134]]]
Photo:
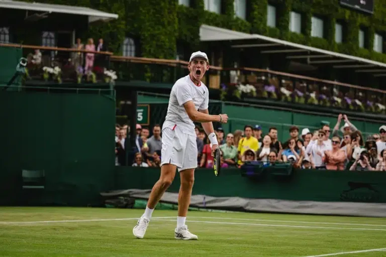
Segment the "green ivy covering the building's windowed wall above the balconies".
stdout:
[[[29,1],[32,2],[32,1]],[[202,24],[231,30],[257,33],[295,43],[386,62],[386,55],[372,50],[374,33],[386,32],[386,6],[374,0],[374,14],[363,14],[342,8],[338,0],[247,0],[247,19],[234,16],[234,1],[222,0],[222,14],[204,10],[204,0],[190,0],[190,7],[178,5],[178,0],[40,0],[50,4],[85,6],[119,15],[108,23],[92,24],[83,38],[103,37],[110,50],[122,53],[126,36],[136,39],[143,57],[174,58],[176,44],[185,42],[189,48],[200,45]],[[267,5],[276,6],[276,28],[266,26]],[[289,12],[302,14],[302,34],[289,31]],[[311,17],[324,19],[325,38],[311,37]],[[344,42],[335,43],[335,22],[344,24]],[[367,33],[365,45],[358,46],[359,28]],[[383,34],[384,35],[384,34]]]

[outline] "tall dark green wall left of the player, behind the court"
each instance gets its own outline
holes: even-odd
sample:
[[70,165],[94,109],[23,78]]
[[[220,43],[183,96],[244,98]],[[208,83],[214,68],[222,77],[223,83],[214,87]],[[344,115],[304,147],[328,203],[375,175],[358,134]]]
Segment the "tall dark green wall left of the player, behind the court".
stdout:
[[0,113],[0,204],[28,198],[22,169],[45,170],[41,204],[97,204],[114,187],[114,98],[0,92]]

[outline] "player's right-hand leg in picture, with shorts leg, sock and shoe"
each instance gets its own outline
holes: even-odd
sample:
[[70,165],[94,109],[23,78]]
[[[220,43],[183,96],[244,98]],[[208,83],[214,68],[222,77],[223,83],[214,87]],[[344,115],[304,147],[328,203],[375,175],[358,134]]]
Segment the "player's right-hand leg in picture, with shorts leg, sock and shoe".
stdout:
[[181,185],[178,193],[178,217],[177,227],[174,230],[176,239],[198,239],[197,235],[192,234],[185,225],[187,209],[190,204],[191,191],[195,182],[195,169],[197,168],[197,143],[195,137],[188,137],[184,155],[184,163],[178,169]]

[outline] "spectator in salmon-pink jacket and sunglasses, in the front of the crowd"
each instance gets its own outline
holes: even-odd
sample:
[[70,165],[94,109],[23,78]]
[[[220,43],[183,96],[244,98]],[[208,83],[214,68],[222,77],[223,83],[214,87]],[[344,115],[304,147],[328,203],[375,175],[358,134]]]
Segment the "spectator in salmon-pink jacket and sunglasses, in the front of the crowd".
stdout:
[[331,142],[332,150],[324,152],[323,162],[326,163],[327,170],[343,170],[346,154],[340,149],[340,138],[333,137]]

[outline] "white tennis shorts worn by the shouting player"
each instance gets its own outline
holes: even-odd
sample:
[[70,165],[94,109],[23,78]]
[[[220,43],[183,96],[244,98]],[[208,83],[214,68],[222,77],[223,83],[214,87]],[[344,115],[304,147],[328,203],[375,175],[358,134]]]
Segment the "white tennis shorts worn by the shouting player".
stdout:
[[183,133],[178,125],[173,129],[162,130],[161,166],[164,164],[177,166],[178,171],[197,168],[196,135]]

